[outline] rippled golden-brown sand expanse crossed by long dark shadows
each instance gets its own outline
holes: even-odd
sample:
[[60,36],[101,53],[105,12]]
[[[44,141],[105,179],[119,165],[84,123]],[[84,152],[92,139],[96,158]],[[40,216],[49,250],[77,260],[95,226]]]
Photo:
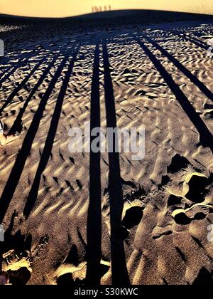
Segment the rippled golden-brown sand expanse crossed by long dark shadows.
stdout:
[[[213,26],[161,21],[1,25],[11,283],[212,283]],[[145,159],[72,154],[68,130],[84,122],[145,126]]]

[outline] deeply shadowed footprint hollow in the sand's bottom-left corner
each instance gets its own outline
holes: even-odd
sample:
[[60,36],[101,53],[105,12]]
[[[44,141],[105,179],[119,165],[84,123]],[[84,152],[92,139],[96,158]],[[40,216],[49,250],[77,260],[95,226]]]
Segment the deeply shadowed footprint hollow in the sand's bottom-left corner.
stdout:
[[18,213],[14,211],[11,224],[5,231],[5,242],[0,246],[0,285],[26,285],[33,273],[33,262],[40,258],[40,252],[48,245],[48,235],[40,238],[37,246],[33,246],[31,235],[22,235],[20,230],[12,235],[18,220]]

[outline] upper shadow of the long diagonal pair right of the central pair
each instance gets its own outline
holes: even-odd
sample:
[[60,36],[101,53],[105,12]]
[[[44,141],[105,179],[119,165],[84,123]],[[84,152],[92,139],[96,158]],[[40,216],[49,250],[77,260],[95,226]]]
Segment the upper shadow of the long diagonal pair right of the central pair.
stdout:
[[197,87],[202,91],[202,93],[204,93],[204,95],[207,96],[207,98],[209,98],[210,100],[213,101],[213,93],[207,88],[206,85],[204,85],[204,83],[202,83],[195,75],[193,75],[190,70],[188,70],[187,68],[185,68],[184,65],[182,65],[182,63],[180,63],[176,58],[174,58],[170,53],[168,53],[167,51],[165,51],[165,49],[160,46],[158,43],[156,43],[153,39],[149,38],[148,36],[143,35],[144,38],[147,39],[147,41],[149,41],[150,43],[153,44],[153,46],[155,46],[155,48],[157,48],[165,57],[167,57],[177,68],[179,68],[179,70],[187,76],[187,78],[189,78],[192,83],[194,83],[195,85],[197,85]]

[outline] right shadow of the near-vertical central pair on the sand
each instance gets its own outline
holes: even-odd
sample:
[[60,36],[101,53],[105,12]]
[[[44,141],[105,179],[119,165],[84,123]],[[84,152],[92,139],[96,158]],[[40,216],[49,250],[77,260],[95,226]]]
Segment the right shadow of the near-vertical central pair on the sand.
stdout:
[[[107,127],[116,129],[116,107],[114,89],[111,80],[107,43],[103,41],[104,92],[107,114]],[[111,219],[111,273],[114,285],[129,285],[126,268],[124,241],[121,238],[121,217],[124,208],[124,196],[121,182],[119,153],[116,152],[117,138],[114,138],[113,152],[109,152],[109,203]],[[111,143],[108,140],[108,144]]]

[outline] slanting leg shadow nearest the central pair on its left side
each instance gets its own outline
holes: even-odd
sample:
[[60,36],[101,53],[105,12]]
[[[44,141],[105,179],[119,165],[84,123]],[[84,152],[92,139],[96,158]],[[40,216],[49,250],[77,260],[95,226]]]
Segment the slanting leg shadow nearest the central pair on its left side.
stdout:
[[80,46],[77,46],[77,49],[75,50],[75,52],[72,55],[72,61],[70,62],[67,73],[65,74],[65,79],[63,80],[62,88],[60,89],[60,93],[58,95],[58,100],[56,102],[55,110],[53,112],[53,117],[52,117],[52,120],[51,120],[51,123],[50,123],[50,129],[48,131],[48,136],[47,136],[46,141],[45,141],[45,147],[44,147],[43,152],[42,152],[41,157],[40,157],[40,162],[38,164],[38,169],[37,169],[36,174],[35,174],[35,178],[34,178],[34,181],[33,181],[33,185],[31,187],[31,191],[28,195],[28,200],[26,201],[26,206],[23,210],[23,215],[26,216],[26,218],[28,218],[28,216],[31,214],[31,211],[33,209],[35,201],[38,197],[40,179],[41,179],[41,176],[42,176],[42,174],[45,170],[45,167],[48,164],[51,152],[53,150],[53,143],[54,143],[54,140],[55,140],[55,134],[57,132],[58,123],[59,123],[59,120],[60,120],[60,114],[61,114],[61,111],[62,111],[63,101],[64,101],[65,94],[66,94],[66,91],[67,91],[67,86],[69,85],[70,77],[72,75],[72,70],[74,68],[75,61],[77,59],[77,53],[79,51],[79,48],[80,48]]

